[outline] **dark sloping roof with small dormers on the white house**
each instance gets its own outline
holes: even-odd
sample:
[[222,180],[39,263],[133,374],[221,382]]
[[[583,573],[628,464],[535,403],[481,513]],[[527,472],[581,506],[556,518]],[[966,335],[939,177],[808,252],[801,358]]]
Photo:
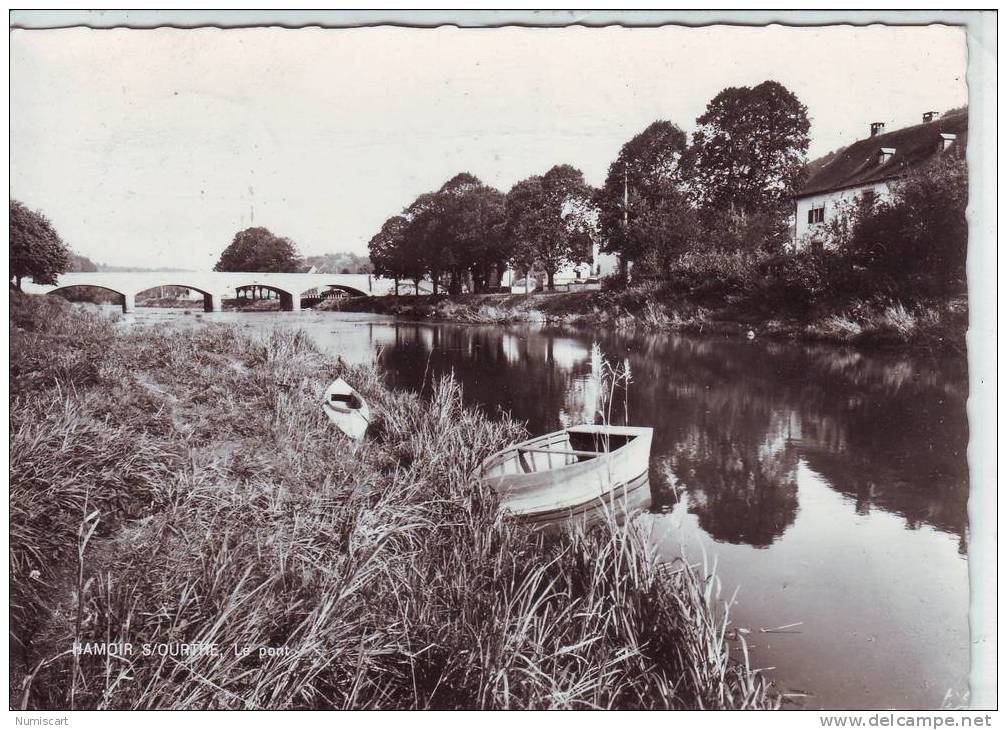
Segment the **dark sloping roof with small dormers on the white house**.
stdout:
[[[954,145],[964,149],[968,133],[969,110],[965,109],[932,122],[862,139],[812,162],[811,176],[796,197],[899,177],[933,159],[941,149],[942,134],[955,135]],[[884,164],[879,159],[882,147],[895,149]]]

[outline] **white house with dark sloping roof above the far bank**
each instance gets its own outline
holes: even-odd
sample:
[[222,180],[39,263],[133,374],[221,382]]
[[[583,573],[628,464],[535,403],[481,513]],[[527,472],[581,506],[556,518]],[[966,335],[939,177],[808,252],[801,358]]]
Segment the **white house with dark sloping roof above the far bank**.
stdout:
[[795,248],[804,248],[831,221],[844,203],[862,195],[885,199],[890,183],[930,162],[954,146],[964,149],[969,129],[969,110],[937,119],[923,114],[920,124],[884,131],[884,122],[871,125],[871,135],[811,163],[808,182],[794,197]]

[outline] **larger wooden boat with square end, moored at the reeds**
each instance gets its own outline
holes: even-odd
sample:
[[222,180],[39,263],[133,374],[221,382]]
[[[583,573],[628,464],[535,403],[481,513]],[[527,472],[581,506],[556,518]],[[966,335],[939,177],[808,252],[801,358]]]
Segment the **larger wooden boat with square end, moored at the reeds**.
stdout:
[[593,509],[648,482],[654,429],[573,426],[499,451],[479,467],[500,508],[551,521]]

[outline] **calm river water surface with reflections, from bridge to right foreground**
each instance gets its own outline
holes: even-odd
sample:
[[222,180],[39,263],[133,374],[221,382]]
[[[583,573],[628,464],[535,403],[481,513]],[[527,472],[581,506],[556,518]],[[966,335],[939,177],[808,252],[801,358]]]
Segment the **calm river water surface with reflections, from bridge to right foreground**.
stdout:
[[[136,321],[176,319],[141,310]],[[652,505],[668,559],[716,561],[753,664],[811,708],[960,702],[969,666],[966,364],[832,346],[375,315],[237,313],[296,325],[418,390],[453,373],[466,399],[533,433],[594,421],[599,355],[628,361],[628,412],[655,428]],[[796,624],[785,632],[767,632]]]

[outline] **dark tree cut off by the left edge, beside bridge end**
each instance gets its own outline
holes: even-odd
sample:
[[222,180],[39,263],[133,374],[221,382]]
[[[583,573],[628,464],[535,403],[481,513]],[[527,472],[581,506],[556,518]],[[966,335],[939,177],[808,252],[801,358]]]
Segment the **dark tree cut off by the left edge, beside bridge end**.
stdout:
[[55,284],[70,267],[69,251],[49,220],[18,200],[10,201],[10,278],[20,291],[30,276],[36,284]]

